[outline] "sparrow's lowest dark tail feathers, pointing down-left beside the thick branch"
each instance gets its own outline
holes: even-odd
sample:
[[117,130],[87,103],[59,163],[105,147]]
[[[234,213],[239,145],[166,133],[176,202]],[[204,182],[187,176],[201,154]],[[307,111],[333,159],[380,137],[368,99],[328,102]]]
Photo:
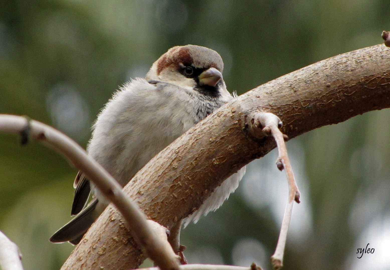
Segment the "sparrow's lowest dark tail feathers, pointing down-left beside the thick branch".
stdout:
[[84,233],[95,221],[94,209],[98,202],[98,200],[92,202],[87,208],[80,212],[80,214],[75,216],[74,219],[56,231],[50,237],[50,242],[62,243],[69,241],[72,244],[78,244]]

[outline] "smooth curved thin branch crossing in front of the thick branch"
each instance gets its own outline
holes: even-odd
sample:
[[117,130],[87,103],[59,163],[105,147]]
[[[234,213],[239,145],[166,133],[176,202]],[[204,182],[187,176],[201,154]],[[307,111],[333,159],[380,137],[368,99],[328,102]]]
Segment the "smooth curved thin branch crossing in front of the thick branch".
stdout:
[[179,269],[178,256],[167,241],[166,229],[148,221],[144,212],[124,194],[118,182],[76,142],[51,126],[21,116],[0,114],[0,131],[20,133],[24,141],[32,137],[65,156],[113,202],[128,222],[138,244],[161,270]]

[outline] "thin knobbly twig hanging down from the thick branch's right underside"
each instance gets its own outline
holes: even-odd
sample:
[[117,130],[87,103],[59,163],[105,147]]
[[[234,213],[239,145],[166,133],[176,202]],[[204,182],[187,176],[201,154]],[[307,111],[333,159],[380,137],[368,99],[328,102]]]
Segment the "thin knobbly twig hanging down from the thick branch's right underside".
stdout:
[[287,238],[287,231],[289,228],[291,214],[293,212],[294,200],[300,203],[300,193],[294,179],[293,168],[291,168],[290,160],[287,155],[287,148],[284,143],[288,140],[288,137],[284,135],[279,128],[282,128],[283,124],[279,117],[270,112],[253,112],[248,115],[248,128],[254,137],[261,138],[265,136],[273,136],[278,147],[278,158],[276,165],[279,170],[285,169],[287,175],[287,181],[289,183],[289,197],[284,212],[282,221],[282,227],[280,228],[280,234],[278,244],[275,249],[275,253],[271,256],[272,266],[275,270],[282,268],[283,255]]

